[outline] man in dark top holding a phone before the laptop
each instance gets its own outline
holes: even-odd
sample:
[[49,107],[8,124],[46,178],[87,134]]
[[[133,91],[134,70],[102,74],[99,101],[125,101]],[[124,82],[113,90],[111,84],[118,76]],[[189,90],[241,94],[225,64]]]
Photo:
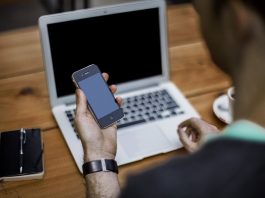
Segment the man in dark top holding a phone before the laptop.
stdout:
[[[89,197],[265,197],[265,2],[194,3],[212,59],[234,82],[235,122],[219,133],[202,120],[185,121],[177,132],[184,147],[196,152],[130,178],[121,192],[116,173],[88,174]],[[76,93],[85,162],[114,159],[116,126],[101,130],[82,91]]]

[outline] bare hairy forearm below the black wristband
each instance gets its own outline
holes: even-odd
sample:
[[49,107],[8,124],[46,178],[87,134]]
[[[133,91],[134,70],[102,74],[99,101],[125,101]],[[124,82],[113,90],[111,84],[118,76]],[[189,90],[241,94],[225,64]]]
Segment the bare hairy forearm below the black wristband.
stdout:
[[86,184],[89,198],[116,198],[120,193],[118,175],[114,172],[88,174]]

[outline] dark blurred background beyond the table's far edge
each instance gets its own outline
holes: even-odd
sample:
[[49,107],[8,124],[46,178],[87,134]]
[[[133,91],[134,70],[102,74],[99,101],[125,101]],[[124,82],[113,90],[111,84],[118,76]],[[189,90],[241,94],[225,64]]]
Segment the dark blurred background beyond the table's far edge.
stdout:
[[[0,0],[0,32],[37,25],[38,18],[45,14],[131,1],[140,0]],[[167,0],[167,3],[190,1]]]

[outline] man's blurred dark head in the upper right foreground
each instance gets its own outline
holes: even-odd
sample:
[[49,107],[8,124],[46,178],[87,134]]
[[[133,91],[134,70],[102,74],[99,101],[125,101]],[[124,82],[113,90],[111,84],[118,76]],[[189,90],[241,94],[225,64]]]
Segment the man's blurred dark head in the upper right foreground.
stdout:
[[257,34],[264,33],[265,1],[194,0],[194,5],[214,62],[233,76]]

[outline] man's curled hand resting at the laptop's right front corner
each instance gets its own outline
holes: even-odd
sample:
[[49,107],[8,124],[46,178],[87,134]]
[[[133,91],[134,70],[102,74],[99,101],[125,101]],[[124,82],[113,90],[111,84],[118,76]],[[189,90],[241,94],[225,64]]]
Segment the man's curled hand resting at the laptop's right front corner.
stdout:
[[177,131],[180,141],[189,152],[199,149],[200,140],[205,135],[220,132],[215,126],[199,118],[191,118],[182,122]]

